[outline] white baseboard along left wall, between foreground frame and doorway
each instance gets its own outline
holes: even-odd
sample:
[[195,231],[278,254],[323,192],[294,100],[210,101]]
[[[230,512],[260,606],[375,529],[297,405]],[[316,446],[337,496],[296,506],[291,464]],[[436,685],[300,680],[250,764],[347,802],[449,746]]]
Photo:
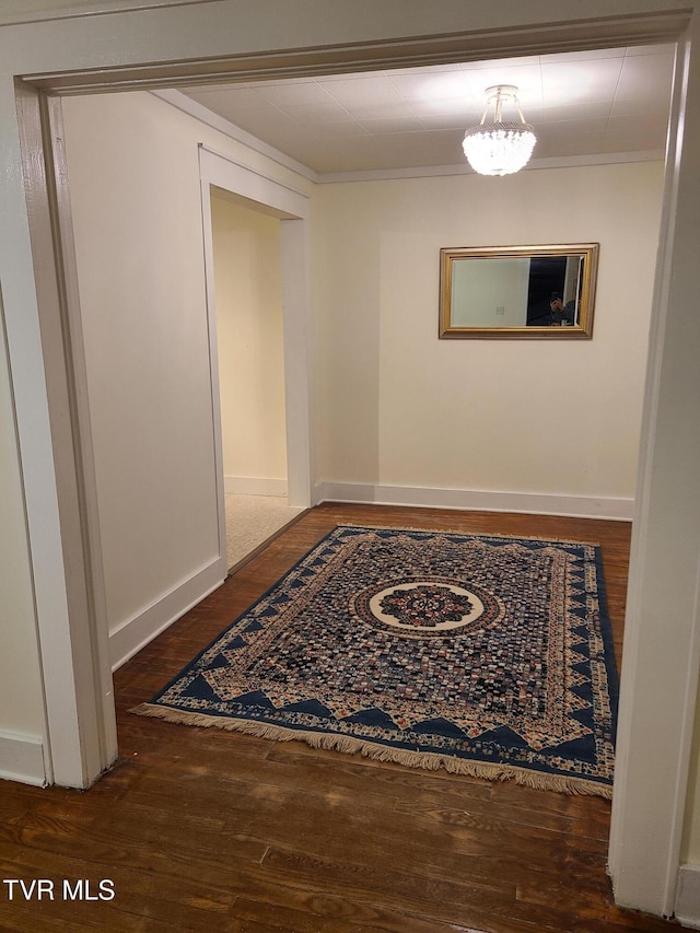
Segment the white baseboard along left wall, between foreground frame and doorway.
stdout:
[[109,632],[112,669],[121,667],[168,626],[200,603],[226,579],[226,559],[218,557],[165,593],[148,608]]

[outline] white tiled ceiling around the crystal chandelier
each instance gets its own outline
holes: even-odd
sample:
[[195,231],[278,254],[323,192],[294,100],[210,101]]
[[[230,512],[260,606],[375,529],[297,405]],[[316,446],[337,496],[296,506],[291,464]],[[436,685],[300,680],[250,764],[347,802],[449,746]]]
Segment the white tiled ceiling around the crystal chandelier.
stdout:
[[316,173],[385,172],[464,167],[492,84],[518,88],[534,160],[663,151],[673,62],[640,46],[179,90]]

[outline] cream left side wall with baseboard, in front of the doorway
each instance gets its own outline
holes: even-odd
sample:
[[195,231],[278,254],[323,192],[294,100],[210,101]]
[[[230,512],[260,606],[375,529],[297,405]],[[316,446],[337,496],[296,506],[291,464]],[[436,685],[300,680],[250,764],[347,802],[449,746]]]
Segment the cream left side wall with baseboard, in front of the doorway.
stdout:
[[198,144],[268,160],[144,92],[67,98],[63,120],[118,665],[225,576]]

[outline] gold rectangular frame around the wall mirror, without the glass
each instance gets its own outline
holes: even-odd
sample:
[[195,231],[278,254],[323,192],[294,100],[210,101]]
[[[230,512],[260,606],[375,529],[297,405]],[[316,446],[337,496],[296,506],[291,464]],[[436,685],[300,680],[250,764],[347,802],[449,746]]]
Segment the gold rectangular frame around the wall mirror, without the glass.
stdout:
[[[441,339],[555,339],[590,340],[593,336],[593,312],[598,271],[598,243],[565,243],[536,246],[485,246],[440,250],[440,338]],[[460,259],[532,258],[535,256],[582,256],[583,281],[579,324],[571,327],[465,327],[452,323],[453,265]]]

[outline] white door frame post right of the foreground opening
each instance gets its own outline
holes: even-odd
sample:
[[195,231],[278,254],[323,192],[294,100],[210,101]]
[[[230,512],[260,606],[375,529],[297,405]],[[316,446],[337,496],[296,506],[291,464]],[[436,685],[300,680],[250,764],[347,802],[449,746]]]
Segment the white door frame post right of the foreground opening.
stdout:
[[[697,13],[693,23],[695,46],[700,40]],[[691,313],[672,313],[691,307],[695,276],[682,259],[697,253],[698,242],[692,166],[700,152],[700,127],[686,124],[685,113],[697,112],[700,82],[689,68],[688,38],[678,45],[674,81],[608,853],[616,903],[661,917],[672,915],[675,908],[700,664],[698,500],[688,494],[688,475],[675,469],[676,464],[696,467],[700,455],[696,428],[685,427],[691,410],[687,400],[695,397],[687,386],[690,354],[679,352],[684,345],[696,345],[697,326],[693,330]],[[696,63],[699,55],[695,48]],[[675,541],[682,541],[684,559],[678,559]]]

